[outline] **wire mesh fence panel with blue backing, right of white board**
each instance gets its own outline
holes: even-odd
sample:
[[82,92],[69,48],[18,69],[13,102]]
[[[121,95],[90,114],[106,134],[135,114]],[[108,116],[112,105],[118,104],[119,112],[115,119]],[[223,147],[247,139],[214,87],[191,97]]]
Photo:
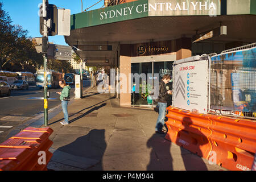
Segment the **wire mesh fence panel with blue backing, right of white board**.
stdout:
[[256,43],[211,57],[210,109],[256,118]]

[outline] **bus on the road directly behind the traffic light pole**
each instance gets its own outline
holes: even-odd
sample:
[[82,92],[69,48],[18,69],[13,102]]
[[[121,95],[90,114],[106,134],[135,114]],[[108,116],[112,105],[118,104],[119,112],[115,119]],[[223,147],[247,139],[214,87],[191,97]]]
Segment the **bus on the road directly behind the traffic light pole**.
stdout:
[[[53,70],[47,70],[47,87],[58,88],[59,80],[63,78],[62,73]],[[42,89],[44,87],[44,70],[36,72],[36,87]]]

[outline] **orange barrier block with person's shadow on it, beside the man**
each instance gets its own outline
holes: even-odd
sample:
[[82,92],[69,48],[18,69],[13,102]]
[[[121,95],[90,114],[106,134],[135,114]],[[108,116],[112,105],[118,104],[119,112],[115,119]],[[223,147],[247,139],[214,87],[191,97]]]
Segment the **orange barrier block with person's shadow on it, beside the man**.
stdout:
[[210,122],[205,114],[168,107],[166,115],[168,133],[166,139],[204,158],[208,158],[212,150],[208,137]]

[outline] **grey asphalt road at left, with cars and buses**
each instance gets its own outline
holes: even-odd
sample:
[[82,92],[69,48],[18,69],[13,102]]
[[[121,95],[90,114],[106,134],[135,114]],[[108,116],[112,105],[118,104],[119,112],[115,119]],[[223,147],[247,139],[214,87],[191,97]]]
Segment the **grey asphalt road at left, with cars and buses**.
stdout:
[[[90,86],[90,80],[83,81],[83,90]],[[61,88],[48,89],[48,110],[59,106]],[[75,97],[75,86],[71,86],[71,98]],[[0,96],[0,143],[5,141],[10,130],[24,122],[40,117],[44,113],[43,89],[30,85],[28,90],[11,90],[11,95]]]

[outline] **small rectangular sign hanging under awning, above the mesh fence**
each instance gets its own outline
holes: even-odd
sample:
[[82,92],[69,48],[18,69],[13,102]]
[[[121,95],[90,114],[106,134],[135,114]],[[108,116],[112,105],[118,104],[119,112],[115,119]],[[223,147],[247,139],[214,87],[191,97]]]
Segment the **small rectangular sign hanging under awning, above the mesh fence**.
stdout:
[[213,30],[203,32],[201,34],[194,35],[192,38],[192,42],[196,43],[202,40],[213,38],[214,36],[220,36],[220,35],[226,35],[226,34],[227,34],[227,27],[221,26]]

